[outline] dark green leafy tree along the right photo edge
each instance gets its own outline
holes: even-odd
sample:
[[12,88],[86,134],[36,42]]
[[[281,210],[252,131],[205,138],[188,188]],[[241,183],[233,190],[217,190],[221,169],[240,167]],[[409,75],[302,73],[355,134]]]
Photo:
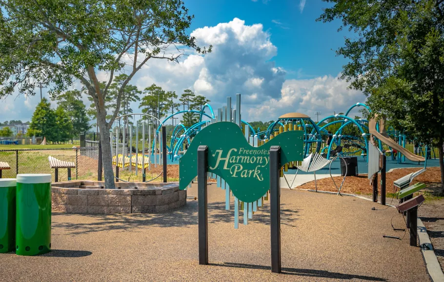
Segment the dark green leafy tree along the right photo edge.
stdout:
[[337,50],[342,78],[367,95],[372,113],[439,150],[444,192],[444,1],[324,0],[318,20],[354,32]]

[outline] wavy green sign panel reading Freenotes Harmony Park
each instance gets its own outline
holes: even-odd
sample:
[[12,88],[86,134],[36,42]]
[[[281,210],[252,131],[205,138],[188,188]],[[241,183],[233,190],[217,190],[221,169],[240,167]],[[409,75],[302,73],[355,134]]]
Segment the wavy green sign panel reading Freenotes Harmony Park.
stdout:
[[281,164],[303,160],[303,132],[287,131],[260,147],[245,140],[232,122],[216,122],[203,128],[179,160],[179,188],[197,176],[197,149],[208,146],[208,172],[222,177],[239,200],[252,203],[270,189],[269,150],[281,146]]

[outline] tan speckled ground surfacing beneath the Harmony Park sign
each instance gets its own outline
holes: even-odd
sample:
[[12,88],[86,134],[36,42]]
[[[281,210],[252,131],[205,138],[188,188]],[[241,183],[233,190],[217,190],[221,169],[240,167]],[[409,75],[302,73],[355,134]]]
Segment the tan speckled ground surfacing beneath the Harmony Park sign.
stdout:
[[[196,185],[188,196],[197,196]],[[394,208],[282,189],[283,274],[271,273],[268,202],[233,228],[225,191],[208,187],[209,260],[198,263],[198,202],[162,214],[54,213],[51,253],[0,255],[0,281],[429,281],[419,247],[383,235]],[[403,228],[401,215],[393,225]]]

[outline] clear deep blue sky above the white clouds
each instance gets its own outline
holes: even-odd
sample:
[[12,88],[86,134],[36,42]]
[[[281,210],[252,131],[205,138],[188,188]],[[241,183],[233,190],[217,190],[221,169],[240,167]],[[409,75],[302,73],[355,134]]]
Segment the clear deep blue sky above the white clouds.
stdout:
[[215,26],[234,18],[246,25],[262,23],[278,48],[273,58],[287,70],[287,79],[337,75],[346,59],[335,55],[348,32],[337,32],[340,21],[317,22],[323,8],[331,6],[321,0],[185,0],[190,14],[195,15],[191,30]]

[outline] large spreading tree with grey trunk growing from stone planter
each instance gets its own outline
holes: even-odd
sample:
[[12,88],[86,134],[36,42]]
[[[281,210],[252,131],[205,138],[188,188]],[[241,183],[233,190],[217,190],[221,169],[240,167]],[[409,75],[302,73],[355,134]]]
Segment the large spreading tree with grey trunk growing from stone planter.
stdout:
[[[184,50],[207,52],[187,34],[193,16],[182,0],[1,0],[0,8],[0,96],[35,94],[38,83],[51,85],[49,94],[57,96],[80,81],[96,107],[103,140],[125,86],[149,59],[177,61]],[[109,74],[104,87],[99,72]],[[106,96],[117,72],[128,77],[109,113]],[[115,188],[108,142],[102,160],[105,186]]]

